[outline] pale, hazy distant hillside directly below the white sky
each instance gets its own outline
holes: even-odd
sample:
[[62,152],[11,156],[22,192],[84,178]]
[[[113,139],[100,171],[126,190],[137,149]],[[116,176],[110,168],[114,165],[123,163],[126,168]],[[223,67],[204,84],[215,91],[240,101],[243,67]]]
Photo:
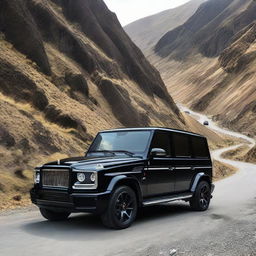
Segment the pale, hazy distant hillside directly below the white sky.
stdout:
[[182,25],[205,0],[188,3],[132,22],[124,27],[127,34],[146,56],[150,56],[158,40],[168,31]]

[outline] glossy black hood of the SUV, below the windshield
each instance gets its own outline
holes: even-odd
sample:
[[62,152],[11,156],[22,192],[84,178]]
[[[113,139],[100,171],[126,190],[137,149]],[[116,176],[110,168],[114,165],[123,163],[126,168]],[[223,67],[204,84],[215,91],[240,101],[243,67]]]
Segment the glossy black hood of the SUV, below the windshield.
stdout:
[[72,157],[49,162],[44,166],[68,166],[73,169],[106,169],[115,166],[143,163],[145,160],[138,157]]

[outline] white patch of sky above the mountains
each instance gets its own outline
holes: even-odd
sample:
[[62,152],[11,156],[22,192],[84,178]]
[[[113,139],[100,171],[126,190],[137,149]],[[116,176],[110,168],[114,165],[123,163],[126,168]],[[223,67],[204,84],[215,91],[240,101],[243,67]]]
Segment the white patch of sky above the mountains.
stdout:
[[104,0],[123,26],[140,18],[175,8],[189,0]]

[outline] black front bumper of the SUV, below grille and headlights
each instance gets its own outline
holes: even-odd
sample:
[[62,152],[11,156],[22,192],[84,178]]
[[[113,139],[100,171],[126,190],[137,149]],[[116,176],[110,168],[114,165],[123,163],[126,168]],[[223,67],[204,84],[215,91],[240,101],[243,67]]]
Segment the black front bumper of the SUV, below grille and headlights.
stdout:
[[31,201],[40,208],[54,211],[90,212],[106,211],[110,191],[103,193],[71,193],[56,190],[30,190]]

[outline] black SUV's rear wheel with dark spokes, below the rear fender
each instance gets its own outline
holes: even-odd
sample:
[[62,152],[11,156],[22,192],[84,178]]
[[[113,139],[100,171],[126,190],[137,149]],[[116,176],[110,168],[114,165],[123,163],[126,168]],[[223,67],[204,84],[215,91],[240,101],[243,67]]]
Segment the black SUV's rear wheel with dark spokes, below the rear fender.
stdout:
[[208,182],[201,181],[196,188],[194,196],[189,201],[194,211],[206,211],[211,201],[211,188]]

